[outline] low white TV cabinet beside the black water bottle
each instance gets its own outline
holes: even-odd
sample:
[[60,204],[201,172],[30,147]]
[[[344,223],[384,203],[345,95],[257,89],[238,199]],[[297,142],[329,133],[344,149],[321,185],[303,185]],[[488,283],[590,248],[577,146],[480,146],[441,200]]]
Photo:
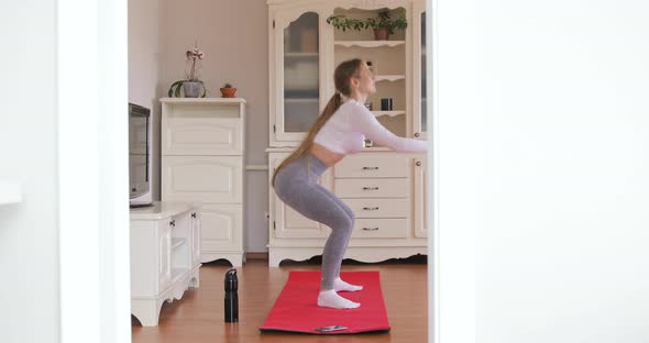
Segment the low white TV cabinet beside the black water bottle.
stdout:
[[157,325],[164,301],[199,285],[200,207],[154,202],[131,209],[131,313]]

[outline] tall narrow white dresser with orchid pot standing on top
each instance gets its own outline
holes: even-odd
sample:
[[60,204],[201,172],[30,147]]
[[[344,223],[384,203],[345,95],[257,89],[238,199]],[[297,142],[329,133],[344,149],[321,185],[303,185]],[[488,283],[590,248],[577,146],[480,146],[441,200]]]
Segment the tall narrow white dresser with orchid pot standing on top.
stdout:
[[200,262],[244,261],[244,106],[239,98],[163,98],[162,199],[202,203]]

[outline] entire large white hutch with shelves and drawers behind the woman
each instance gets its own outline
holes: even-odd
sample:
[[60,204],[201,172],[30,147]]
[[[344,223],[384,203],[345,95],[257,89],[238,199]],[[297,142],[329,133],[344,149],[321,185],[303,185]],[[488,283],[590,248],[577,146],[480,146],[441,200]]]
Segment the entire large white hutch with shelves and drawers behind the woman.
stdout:
[[[372,112],[399,136],[428,139],[426,98],[426,1],[267,0],[270,23],[268,180],[299,145],[333,96],[333,71],[343,60],[364,58],[376,75]],[[331,14],[376,18],[388,10],[408,26],[387,40],[372,30],[345,32],[327,23]],[[382,99],[392,108],[383,109]],[[369,144],[370,145],[370,144]],[[320,182],[356,214],[345,258],[385,261],[427,253],[426,156],[369,146],[327,170]],[[270,264],[322,253],[329,228],[308,220],[276,197],[270,185]]]

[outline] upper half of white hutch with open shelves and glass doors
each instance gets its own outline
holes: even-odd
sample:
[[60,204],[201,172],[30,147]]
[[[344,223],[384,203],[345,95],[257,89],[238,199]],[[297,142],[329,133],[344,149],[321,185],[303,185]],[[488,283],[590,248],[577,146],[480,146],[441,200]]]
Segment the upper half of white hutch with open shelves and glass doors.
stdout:
[[[333,71],[341,62],[364,58],[375,73],[376,93],[366,107],[396,135],[426,134],[426,1],[268,0],[270,146],[297,146],[334,93]],[[383,13],[404,18],[405,30],[387,37],[372,27],[341,30],[333,14],[352,20]],[[366,142],[371,147],[372,142]],[[375,146],[375,145],[374,145]]]

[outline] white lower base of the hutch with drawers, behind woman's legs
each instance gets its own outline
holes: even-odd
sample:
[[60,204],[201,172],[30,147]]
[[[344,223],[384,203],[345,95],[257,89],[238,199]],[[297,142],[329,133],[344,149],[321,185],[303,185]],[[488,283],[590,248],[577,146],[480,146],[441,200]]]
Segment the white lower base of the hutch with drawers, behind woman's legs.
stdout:
[[[272,151],[268,181],[288,152]],[[345,258],[380,262],[427,254],[425,156],[373,152],[346,156],[320,177],[355,213]],[[419,163],[419,165],[418,165]],[[322,253],[330,229],[304,218],[270,192],[268,263]]]

